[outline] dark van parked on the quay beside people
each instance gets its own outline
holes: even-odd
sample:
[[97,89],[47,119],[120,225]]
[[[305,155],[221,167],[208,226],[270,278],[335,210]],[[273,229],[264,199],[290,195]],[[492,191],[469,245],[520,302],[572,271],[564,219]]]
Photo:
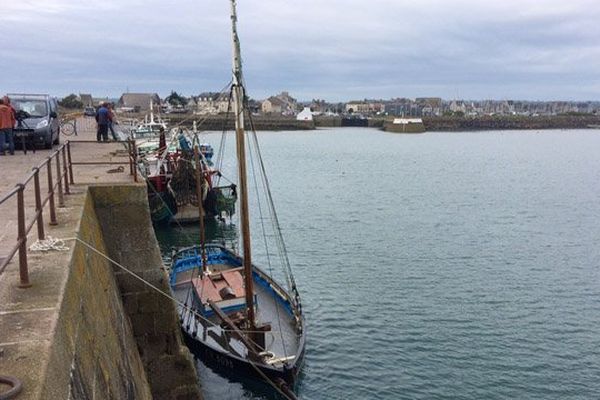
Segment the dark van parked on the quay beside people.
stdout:
[[8,97],[17,113],[16,135],[27,135],[33,145],[42,144],[46,149],[58,144],[60,121],[55,97],[23,93],[9,93]]

